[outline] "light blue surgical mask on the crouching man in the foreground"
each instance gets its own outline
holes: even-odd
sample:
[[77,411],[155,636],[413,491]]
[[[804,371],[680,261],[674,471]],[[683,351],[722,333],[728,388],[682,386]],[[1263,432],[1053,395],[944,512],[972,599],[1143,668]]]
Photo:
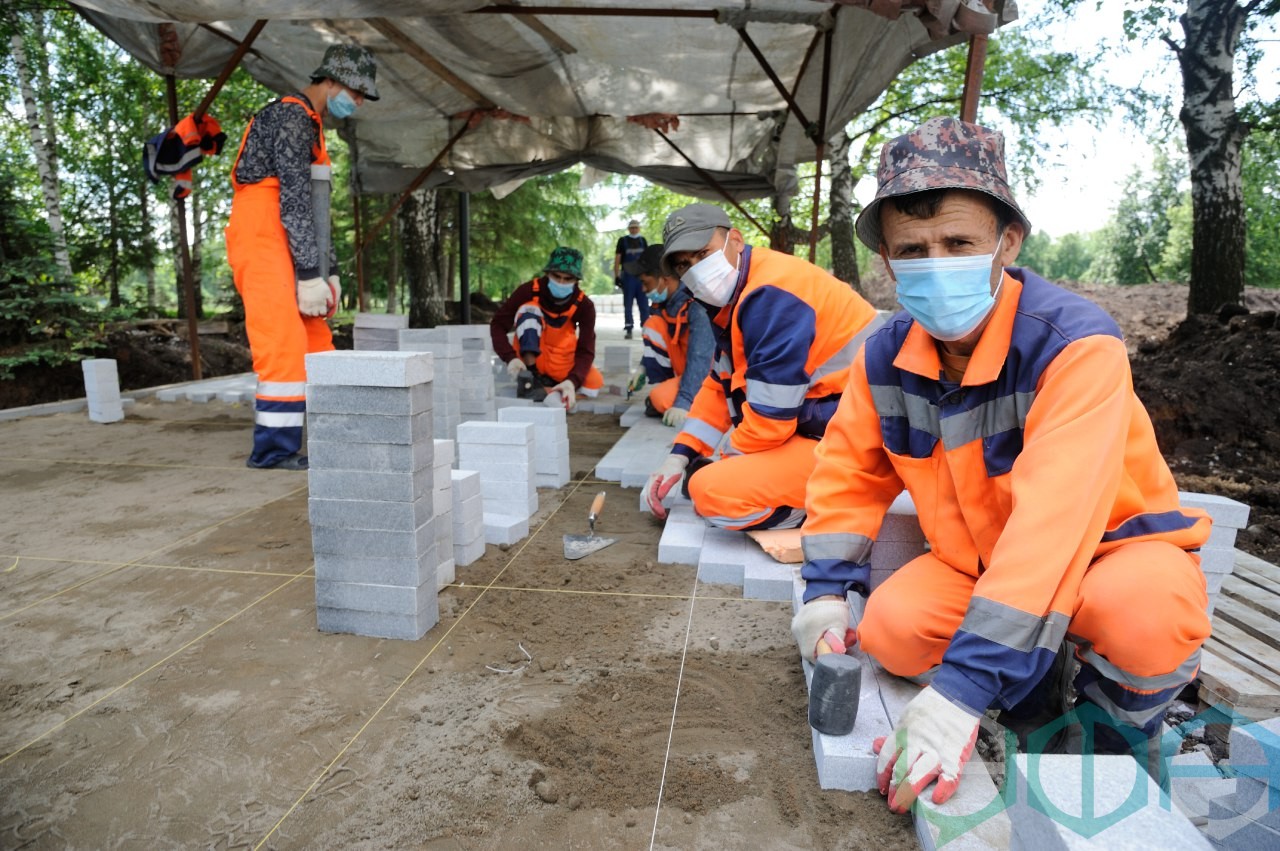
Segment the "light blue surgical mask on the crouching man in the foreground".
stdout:
[[[1004,234],[1001,234],[1004,242]],[[897,282],[897,303],[929,337],[948,342],[968,337],[991,316],[1004,275],[991,292],[991,273],[1000,242],[989,255],[890,260]]]

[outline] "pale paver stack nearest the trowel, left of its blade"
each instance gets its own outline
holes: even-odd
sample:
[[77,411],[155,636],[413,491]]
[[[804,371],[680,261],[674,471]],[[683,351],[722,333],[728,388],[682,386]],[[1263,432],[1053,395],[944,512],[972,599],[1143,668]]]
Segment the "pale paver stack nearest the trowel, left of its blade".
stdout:
[[480,473],[486,543],[511,545],[529,535],[538,511],[531,422],[463,422],[458,468]]

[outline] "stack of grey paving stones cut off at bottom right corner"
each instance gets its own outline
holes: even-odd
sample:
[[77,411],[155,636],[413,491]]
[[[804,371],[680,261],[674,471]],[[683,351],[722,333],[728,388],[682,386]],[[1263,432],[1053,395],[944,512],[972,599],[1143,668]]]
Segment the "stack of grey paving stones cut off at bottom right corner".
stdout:
[[1235,788],[1210,801],[1215,848],[1280,848],[1280,718],[1231,728]]

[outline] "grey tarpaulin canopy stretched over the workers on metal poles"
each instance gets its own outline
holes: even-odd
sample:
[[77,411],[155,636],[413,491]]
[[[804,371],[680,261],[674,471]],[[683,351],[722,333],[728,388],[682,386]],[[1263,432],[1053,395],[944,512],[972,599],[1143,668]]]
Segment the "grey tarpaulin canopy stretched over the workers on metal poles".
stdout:
[[500,195],[582,163],[708,198],[708,177],[735,198],[790,193],[824,128],[865,110],[913,60],[1016,17],[1012,0],[73,5],[177,77],[216,77],[266,19],[243,67],[282,93],[308,83],[329,45],[370,49],[381,99],[335,122],[353,142],[361,192],[403,189],[461,132],[425,186]]

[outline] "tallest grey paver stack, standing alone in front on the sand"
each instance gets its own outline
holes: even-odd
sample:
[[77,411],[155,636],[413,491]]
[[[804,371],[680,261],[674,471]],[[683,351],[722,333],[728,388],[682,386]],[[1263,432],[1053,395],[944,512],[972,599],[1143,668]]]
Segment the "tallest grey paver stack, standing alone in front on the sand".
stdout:
[[439,621],[431,356],[307,354],[316,619],[420,639]]

